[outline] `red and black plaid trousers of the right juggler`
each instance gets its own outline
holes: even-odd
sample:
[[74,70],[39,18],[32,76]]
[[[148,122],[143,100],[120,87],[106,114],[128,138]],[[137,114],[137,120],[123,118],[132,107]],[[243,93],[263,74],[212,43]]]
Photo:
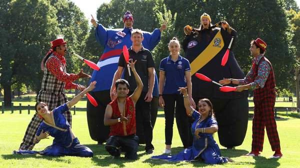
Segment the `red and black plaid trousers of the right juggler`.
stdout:
[[252,151],[261,152],[264,139],[264,128],[272,151],[280,150],[280,141],[274,118],[275,96],[254,101],[254,116],[252,121]]

